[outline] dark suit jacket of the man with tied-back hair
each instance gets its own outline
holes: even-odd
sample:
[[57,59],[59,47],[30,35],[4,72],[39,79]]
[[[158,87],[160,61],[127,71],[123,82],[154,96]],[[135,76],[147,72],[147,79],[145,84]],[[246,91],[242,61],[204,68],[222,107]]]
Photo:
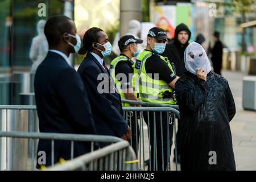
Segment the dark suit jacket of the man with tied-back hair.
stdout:
[[[99,93],[101,80],[98,76],[105,74],[105,81],[110,85],[110,74],[106,72],[102,65],[91,54],[87,53],[77,72],[80,74],[86,91],[89,93],[90,106],[92,107],[93,119],[96,127],[96,134],[113,135],[122,137],[127,130],[127,123],[123,118],[121,97],[116,91],[114,93]],[[105,88],[106,90],[110,89]],[[105,146],[101,144],[101,146]]]

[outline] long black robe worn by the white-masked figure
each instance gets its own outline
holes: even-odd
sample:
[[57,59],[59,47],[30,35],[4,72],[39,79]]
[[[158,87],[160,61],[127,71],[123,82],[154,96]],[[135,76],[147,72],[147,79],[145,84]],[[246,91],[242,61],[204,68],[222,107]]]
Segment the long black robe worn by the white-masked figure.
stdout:
[[181,170],[236,170],[229,126],[236,106],[228,81],[212,71],[207,82],[185,72],[175,92],[181,115]]

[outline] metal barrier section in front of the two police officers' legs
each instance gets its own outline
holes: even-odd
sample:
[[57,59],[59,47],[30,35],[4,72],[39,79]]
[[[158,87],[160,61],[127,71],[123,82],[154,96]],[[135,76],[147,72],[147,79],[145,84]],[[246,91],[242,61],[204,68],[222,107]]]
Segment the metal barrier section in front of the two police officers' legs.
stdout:
[[[126,102],[127,103],[127,102]],[[129,104],[144,105],[142,102],[130,102]],[[123,112],[127,123],[132,130],[130,140],[131,146],[137,153],[139,169],[143,170],[170,170],[171,169],[171,143],[173,131],[176,146],[176,116],[180,118],[179,111],[171,107],[123,107]],[[134,122],[137,121],[139,124]],[[133,121],[133,122],[132,122]],[[135,126],[134,126],[135,125]],[[144,134],[144,126],[146,125],[148,137]],[[173,125],[173,127],[171,127]],[[138,129],[139,127],[139,129]],[[134,134],[135,133],[135,134]],[[148,140],[147,140],[148,138]],[[135,143],[134,143],[135,142]],[[148,145],[148,146],[147,146]],[[160,153],[160,154],[158,154]],[[146,168],[145,159],[148,154],[149,164]],[[175,156],[177,156],[177,147],[175,147]],[[175,167],[177,170],[177,158]]]

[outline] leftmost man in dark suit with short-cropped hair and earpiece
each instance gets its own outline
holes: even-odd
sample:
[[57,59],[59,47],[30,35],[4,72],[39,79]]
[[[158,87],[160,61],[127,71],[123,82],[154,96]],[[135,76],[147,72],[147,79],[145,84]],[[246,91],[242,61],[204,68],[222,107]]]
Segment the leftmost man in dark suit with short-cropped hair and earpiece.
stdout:
[[[45,133],[95,134],[94,121],[81,77],[69,64],[70,53],[78,51],[81,40],[76,36],[73,20],[53,16],[44,27],[49,51],[35,73],[35,99],[39,130]],[[38,152],[46,152],[50,166],[51,140],[39,140]],[[89,143],[74,142],[73,157],[89,151]],[[40,156],[38,156],[40,157]],[[54,163],[71,158],[71,142],[56,140]],[[40,163],[37,163],[37,168]]]

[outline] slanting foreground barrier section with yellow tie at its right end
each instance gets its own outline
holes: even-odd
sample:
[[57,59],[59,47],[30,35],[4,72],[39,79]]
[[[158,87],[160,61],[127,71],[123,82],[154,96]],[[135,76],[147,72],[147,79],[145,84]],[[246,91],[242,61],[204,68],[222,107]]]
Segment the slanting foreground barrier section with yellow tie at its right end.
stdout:
[[129,142],[123,140],[100,150],[81,155],[63,164],[48,168],[50,171],[135,171],[137,160]]

